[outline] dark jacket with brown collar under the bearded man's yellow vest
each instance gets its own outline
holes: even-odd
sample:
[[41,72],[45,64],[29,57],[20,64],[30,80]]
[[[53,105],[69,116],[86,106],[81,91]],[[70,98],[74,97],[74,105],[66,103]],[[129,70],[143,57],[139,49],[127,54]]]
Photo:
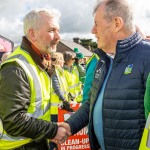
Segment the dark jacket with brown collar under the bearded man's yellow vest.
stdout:
[[[34,53],[25,38],[21,47],[30,53],[43,71],[48,70],[43,59]],[[54,138],[58,129],[56,123],[26,115],[30,97],[30,85],[24,70],[15,62],[5,64],[0,70],[0,118],[5,131],[11,136],[31,138],[38,143]]]

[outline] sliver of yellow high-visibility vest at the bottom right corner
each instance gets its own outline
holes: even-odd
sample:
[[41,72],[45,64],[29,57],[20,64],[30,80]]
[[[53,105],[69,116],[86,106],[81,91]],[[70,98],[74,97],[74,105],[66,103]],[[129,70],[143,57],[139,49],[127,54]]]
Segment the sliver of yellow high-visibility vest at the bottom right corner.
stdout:
[[139,150],[150,150],[150,114],[146,121]]

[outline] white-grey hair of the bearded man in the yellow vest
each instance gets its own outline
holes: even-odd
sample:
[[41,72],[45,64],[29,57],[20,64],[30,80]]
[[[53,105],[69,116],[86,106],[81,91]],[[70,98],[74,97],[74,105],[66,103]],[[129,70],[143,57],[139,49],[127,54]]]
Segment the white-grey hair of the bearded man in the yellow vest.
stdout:
[[46,8],[37,8],[35,10],[30,11],[24,17],[24,34],[28,37],[29,29],[39,29],[42,25],[42,14],[50,17],[57,18],[58,20],[61,17],[61,14],[56,9],[46,9]]

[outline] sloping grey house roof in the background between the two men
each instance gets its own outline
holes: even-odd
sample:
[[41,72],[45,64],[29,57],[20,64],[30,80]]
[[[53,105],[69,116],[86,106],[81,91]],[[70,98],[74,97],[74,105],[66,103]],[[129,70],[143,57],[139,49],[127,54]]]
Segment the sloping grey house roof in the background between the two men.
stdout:
[[82,52],[86,57],[91,57],[93,54],[91,51],[89,51],[88,49],[86,49],[82,45],[77,44],[75,42],[68,41],[68,40],[60,40],[60,42],[62,44],[64,44],[66,47],[70,48],[72,51],[74,50],[74,48],[78,48],[79,52]]

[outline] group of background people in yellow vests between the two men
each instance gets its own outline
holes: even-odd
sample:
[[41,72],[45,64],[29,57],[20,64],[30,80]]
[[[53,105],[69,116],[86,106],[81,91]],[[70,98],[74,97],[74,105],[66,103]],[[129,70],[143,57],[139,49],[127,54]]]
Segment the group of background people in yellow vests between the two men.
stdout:
[[[79,57],[79,54],[82,56]],[[82,100],[84,83],[82,78],[85,78],[85,69],[80,66],[80,62],[83,58],[84,55],[79,51],[64,54],[55,52],[51,55],[51,64],[54,68],[51,91],[51,121],[53,122],[58,122],[58,107],[74,112],[70,104]],[[50,147],[51,150],[57,149],[57,144],[50,142]]]

